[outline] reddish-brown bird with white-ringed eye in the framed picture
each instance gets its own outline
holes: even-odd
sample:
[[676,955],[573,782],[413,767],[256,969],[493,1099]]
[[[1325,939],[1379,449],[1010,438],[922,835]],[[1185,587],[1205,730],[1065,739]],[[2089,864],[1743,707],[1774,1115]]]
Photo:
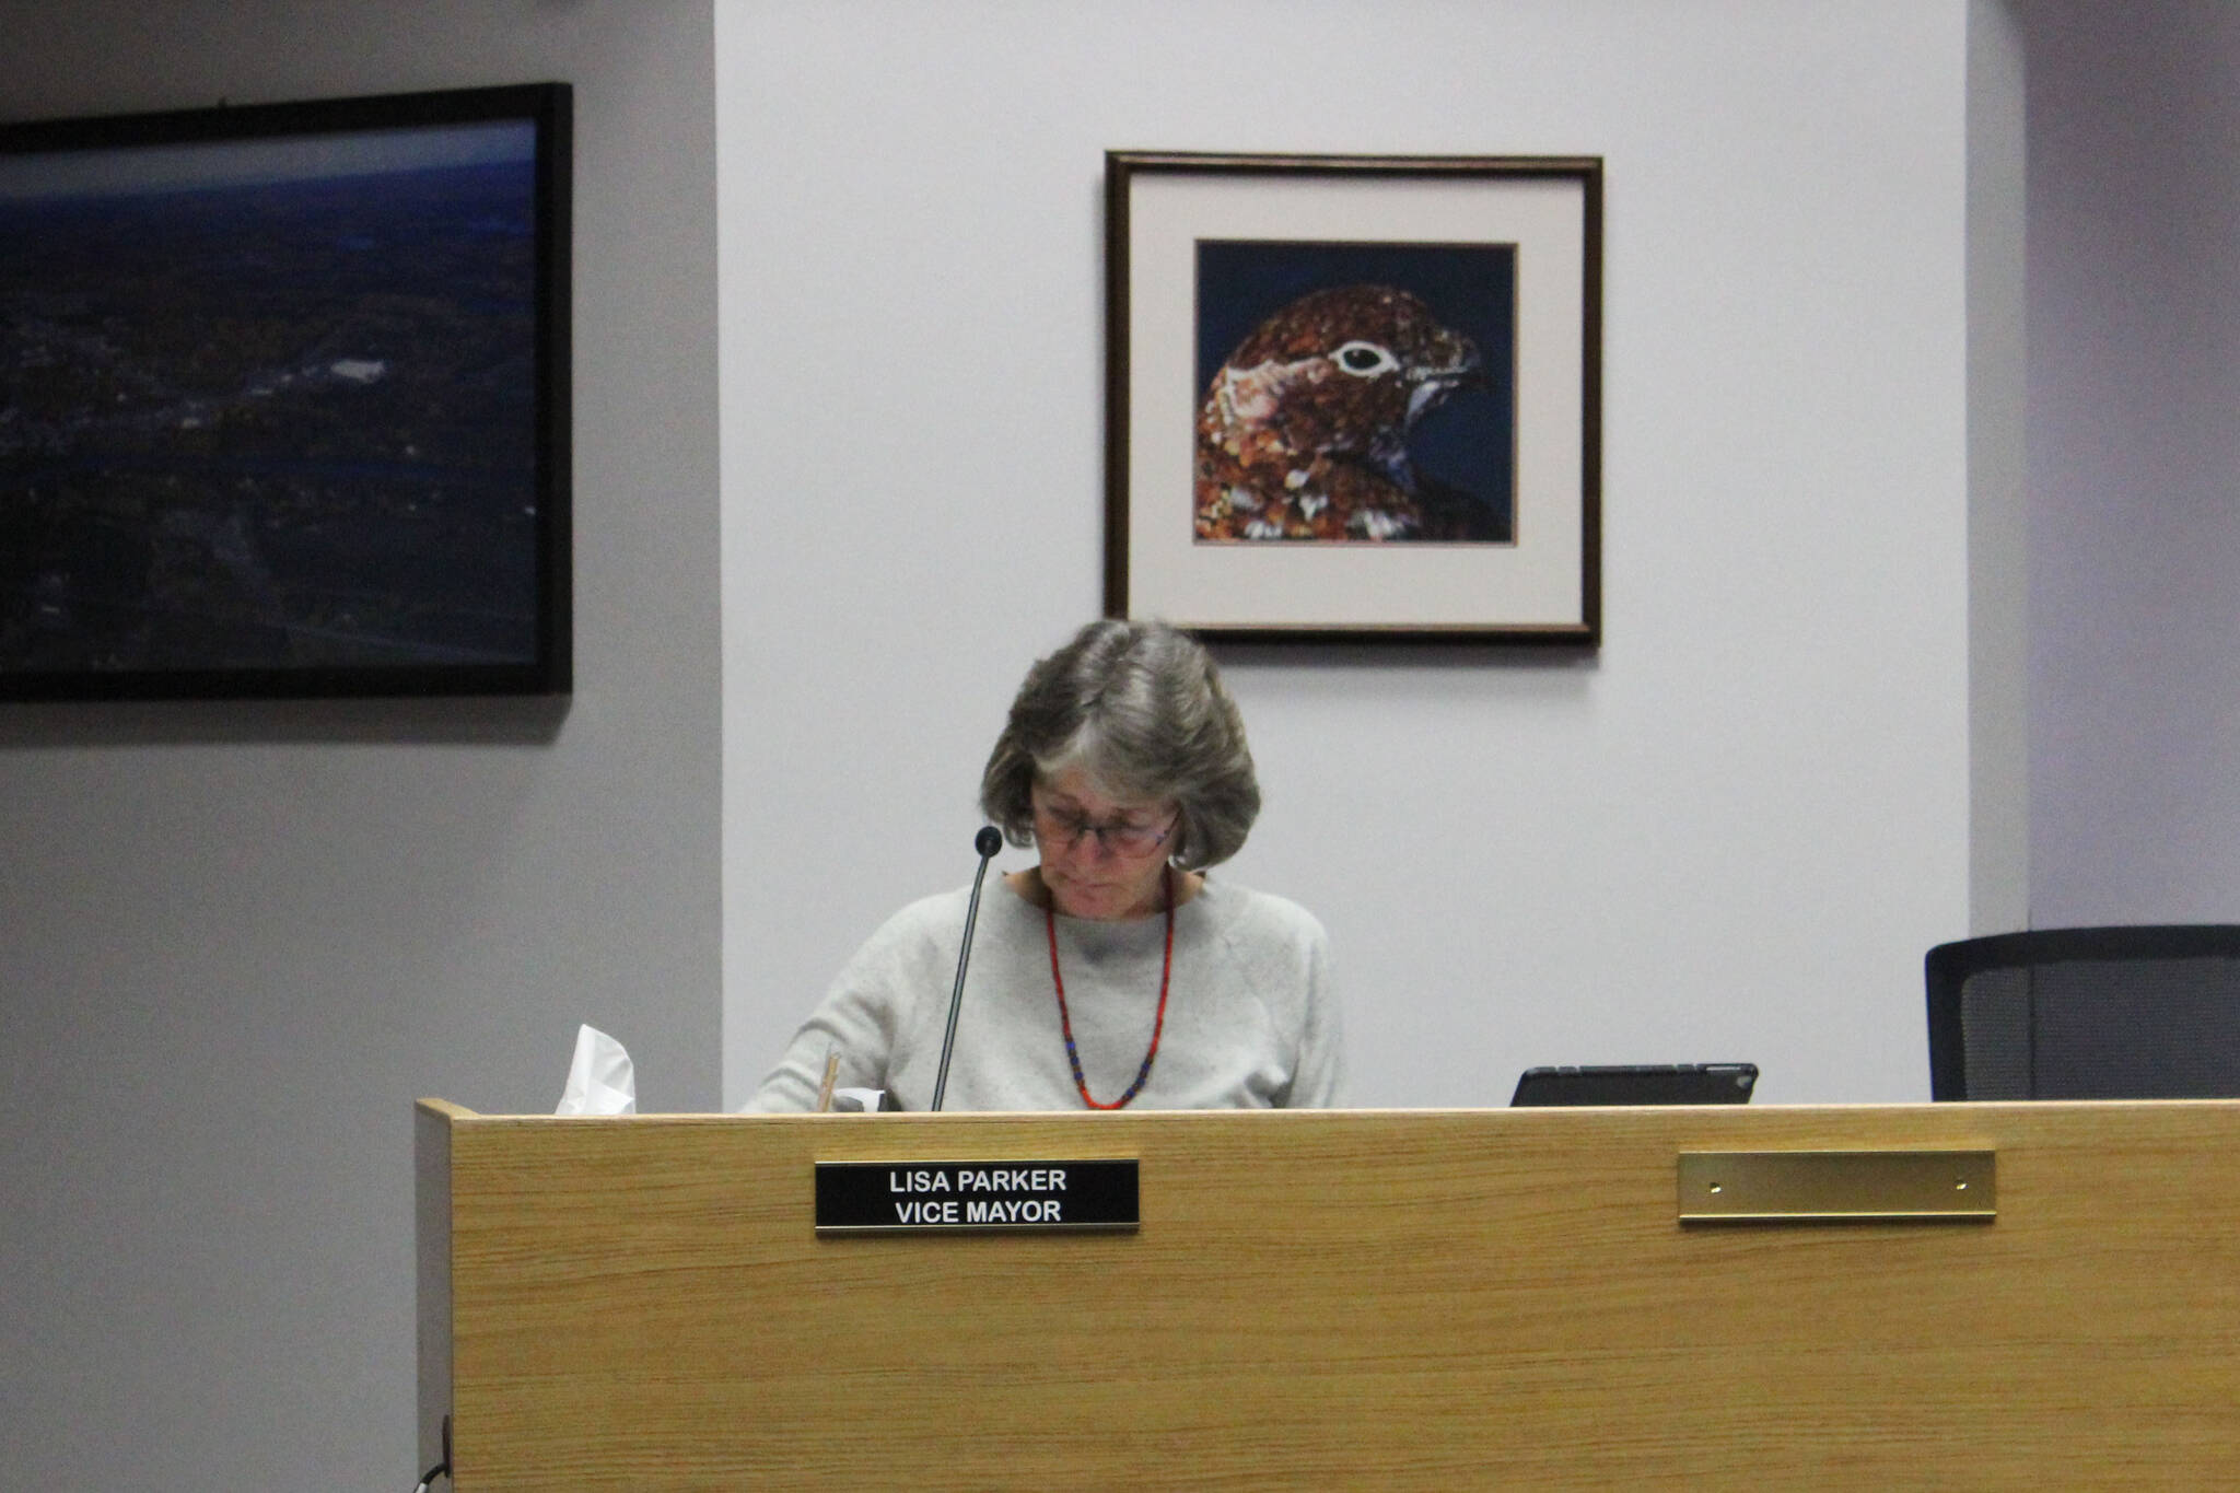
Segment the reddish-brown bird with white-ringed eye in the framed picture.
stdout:
[[1196,537],[1501,537],[1485,504],[1420,475],[1407,452],[1416,421],[1478,378],[1476,345],[1407,291],[1301,295],[1205,389]]

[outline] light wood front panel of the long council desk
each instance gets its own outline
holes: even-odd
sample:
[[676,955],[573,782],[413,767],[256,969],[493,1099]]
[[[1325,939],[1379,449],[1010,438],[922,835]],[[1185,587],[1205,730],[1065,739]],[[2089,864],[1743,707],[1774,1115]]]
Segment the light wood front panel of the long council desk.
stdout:
[[[2240,1486],[2240,1104],[430,1117],[459,1493]],[[1891,1146],[1996,1222],[1676,1220]],[[818,1159],[1100,1155],[1138,1233],[811,1231]]]

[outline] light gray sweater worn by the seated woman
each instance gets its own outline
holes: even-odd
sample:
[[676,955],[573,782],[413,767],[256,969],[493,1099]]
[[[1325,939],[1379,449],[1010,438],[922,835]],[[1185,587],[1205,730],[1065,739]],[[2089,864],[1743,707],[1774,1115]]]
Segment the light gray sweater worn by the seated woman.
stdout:
[[[842,1088],[885,1088],[925,1110],[956,983],[970,889],[912,902],[833,980],[746,1104],[815,1108],[824,1054]],[[1073,1041],[1089,1092],[1111,1104],[1136,1081],[1158,1014],[1165,915],[1057,920]],[[1337,1095],[1337,1003],[1328,936],[1295,902],[1214,877],[1174,913],[1167,1025],[1129,1108],[1310,1108]],[[943,1110],[1080,1110],[1051,985],[1044,915],[990,877],[981,893]]]

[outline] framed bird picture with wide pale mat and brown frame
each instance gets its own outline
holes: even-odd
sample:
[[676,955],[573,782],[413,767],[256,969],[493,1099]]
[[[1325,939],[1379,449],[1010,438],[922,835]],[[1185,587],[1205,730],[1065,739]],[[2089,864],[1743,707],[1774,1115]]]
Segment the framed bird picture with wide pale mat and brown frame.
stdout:
[[1122,152],[1104,611],[1602,638],[1602,161]]

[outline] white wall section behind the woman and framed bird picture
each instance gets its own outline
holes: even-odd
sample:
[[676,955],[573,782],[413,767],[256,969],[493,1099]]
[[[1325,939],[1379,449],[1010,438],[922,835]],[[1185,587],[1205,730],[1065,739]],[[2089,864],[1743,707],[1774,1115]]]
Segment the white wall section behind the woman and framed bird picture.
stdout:
[[1969,9],[719,0],[726,1101],[965,880],[1010,692],[1098,609],[1107,148],[1606,159],[1599,656],[1221,654],[1268,801],[1234,875],[1328,922],[1351,1099],[1736,1057],[1926,1097]]

